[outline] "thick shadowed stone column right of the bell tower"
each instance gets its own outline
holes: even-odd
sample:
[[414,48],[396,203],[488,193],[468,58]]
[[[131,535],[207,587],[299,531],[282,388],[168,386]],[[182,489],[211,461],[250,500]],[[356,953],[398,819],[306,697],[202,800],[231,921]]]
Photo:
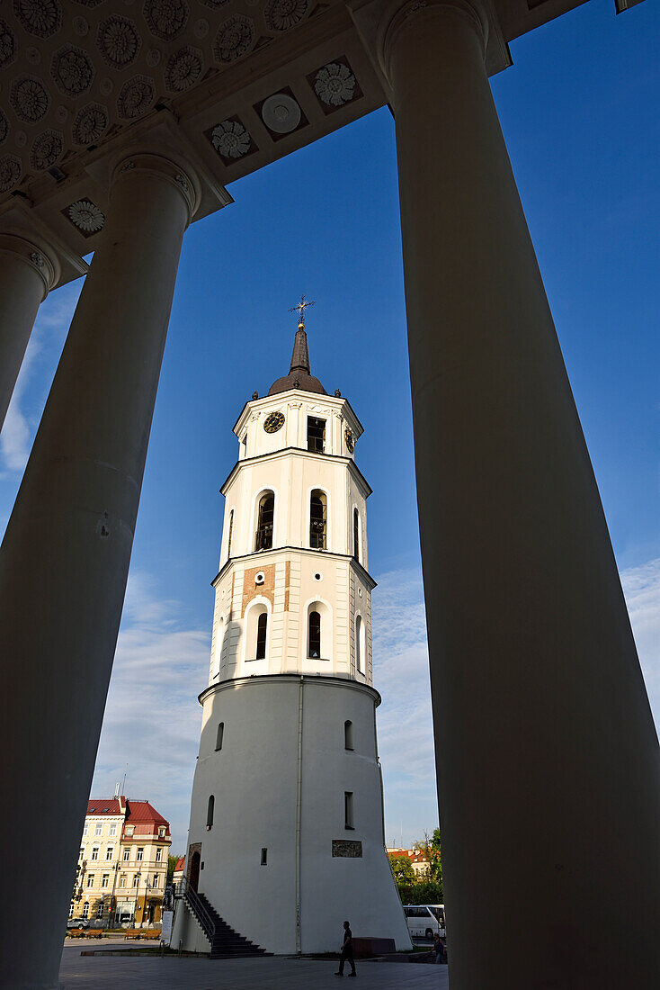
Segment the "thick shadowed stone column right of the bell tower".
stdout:
[[486,33],[468,3],[416,0],[381,49],[450,982],[651,990],[657,738],[484,68]]

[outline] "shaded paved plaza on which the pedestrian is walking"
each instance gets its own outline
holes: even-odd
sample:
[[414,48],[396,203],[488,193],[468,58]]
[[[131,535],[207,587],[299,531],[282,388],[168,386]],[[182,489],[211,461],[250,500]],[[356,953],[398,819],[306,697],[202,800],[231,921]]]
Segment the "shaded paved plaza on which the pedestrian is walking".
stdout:
[[[103,948],[126,948],[104,942]],[[136,946],[137,947],[137,946]],[[87,940],[72,940],[62,952],[60,985],[63,990],[115,990],[140,986],[141,990],[326,990],[342,986],[334,976],[336,960],[248,958],[177,958],[156,955],[81,955],[93,950]],[[378,990],[447,990],[447,967],[410,962],[361,961],[356,963],[359,986]],[[348,969],[346,969],[346,972]],[[343,979],[346,979],[344,973]],[[350,987],[352,983],[349,983]],[[356,981],[356,985],[357,981]]]

